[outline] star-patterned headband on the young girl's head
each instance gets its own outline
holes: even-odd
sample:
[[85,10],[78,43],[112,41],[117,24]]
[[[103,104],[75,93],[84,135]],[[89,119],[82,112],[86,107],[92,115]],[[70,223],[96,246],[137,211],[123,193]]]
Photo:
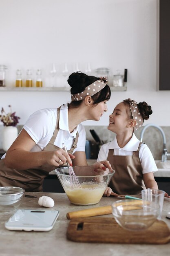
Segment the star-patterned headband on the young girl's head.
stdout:
[[139,112],[139,108],[137,107],[136,101],[133,101],[132,99],[124,99],[124,101],[127,101],[129,103],[130,112],[132,114],[133,120],[136,120],[137,122],[136,125],[134,126],[134,131],[135,131],[143,125],[144,123],[143,117]]

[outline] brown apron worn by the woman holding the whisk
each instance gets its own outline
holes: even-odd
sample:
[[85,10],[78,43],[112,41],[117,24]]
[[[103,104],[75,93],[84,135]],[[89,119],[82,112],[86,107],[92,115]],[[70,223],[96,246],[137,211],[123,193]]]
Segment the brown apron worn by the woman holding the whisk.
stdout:
[[[61,108],[61,107],[60,107]],[[60,108],[57,108],[57,121],[53,137],[42,151],[56,150],[59,147],[54,145],[54,141],[59,131],[59,119],[60,119]],[[77,147],[78,132],[76,138],[73,141],[73,145],[68,153],[73,153],[73,150]],[[0,186],[19,186],[25,189],[25,191],[42,192],[42,184],[44,178],[49,175],[49,172],[56,169],[56,166],[50,164],[44,164],[39,167],[16,170],[8,168],[4,164],[4,159],[0,160]]]

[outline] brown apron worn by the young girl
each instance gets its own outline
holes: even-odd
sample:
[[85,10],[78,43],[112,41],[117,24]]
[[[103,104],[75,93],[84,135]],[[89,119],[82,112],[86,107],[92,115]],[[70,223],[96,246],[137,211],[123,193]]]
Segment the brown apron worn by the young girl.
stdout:
[[[141,143],[139,144],[140,147]],[[141,161],[139,158],[139,147],[133,151],[133,155],[113,155],[114,149],[108,152],[107,160],[110,162],[115,174],[109,183],[113,192],[123,195],[137,195],[146,189]]]

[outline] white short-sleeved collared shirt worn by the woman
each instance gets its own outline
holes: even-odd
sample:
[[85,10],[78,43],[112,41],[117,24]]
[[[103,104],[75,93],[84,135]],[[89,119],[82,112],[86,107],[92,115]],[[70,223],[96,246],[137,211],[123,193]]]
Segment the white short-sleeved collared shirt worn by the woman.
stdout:
[[[23,126],[23,129],[28,132],[31,138],[35,141],[35,146],[30,150],[31,152],[42,151],[49,143],[53,132],[55,130],[57,120],[56,108],[45,108],[33,113]],[[68,105],[63,105],[60,108],[60,120],[59,131],[55,139],[54,145],[62,148],[62,143],[66,146],[67,150],[71,149],[73,145],[73,139],[76,137],[78,131],[79,137],[77,142],[77,148],[75,151],[85,151],[86,144],[86,132],[84,126],[79,124],[73,132],[69,132],[68,129]],[[2,156],[4,158],[5,155]]]

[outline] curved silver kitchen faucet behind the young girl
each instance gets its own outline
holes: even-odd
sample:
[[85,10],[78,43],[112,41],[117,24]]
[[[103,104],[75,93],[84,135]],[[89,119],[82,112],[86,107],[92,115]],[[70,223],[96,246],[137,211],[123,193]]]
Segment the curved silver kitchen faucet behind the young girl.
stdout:
[[162,153],[162,162],[167,162],[167,157],[170,156],[170,153],[168,153],[167,149],[166,149],[166,136],[164,131],[162,130],[162,128],[160,126],[157,126],[155,124],[147,124],[146,126],[144,126],[144,128],[141,131],[141,135],[140,135],[140,141],[143,141],[143,137],[144,137],[144,132],[145,130],[149,127],[149,126],[153,126],[155,128],[157,128],[160,132],[161,135],[163,137],[163,153]]

